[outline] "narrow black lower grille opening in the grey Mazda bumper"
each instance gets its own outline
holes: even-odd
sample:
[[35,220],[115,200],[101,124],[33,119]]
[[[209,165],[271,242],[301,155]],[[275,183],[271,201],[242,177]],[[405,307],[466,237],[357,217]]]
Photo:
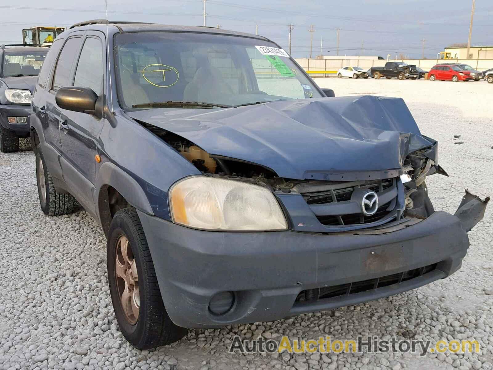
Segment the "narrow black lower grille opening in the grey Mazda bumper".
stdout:
[[408,271],[398,272],[392,275],[386,275],[375,279],[356,281],[347,284],[334,285],[331,287],[322,287],[316,289],[307,289],[302,291],[296,298],[297,302],[313,301],[318,299],[333,298],[337,296],[351,295],[366,292],[372,289],[387,287],[388,285],[402,283],[417,277],[423,276],[428,272],[436,269],[438,263],[433,263],[420,268]]

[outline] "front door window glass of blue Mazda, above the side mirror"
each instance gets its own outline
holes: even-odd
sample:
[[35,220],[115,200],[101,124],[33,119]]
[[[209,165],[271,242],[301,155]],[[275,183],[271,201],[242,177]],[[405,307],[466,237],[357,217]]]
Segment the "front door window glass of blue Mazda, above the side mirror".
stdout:
[[98,95],[103,80],[103,46],[98,38],[88,37],[82,46],[80,58],[75,71],[74,86],[93,89]]

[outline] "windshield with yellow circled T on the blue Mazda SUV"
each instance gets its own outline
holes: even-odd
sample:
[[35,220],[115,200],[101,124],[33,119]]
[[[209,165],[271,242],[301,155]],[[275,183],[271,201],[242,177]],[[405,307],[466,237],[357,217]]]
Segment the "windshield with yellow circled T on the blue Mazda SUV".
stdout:
[[238,106],[322,97],[282,49],[254,38],[122,33],[115,59],[118,98],[127,110],[170,101]]

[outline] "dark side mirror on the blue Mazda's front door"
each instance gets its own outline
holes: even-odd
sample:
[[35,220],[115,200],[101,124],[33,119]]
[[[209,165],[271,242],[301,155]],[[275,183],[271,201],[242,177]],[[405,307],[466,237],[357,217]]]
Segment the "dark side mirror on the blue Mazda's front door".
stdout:
[[88,114],[96,114],[97,100],[98,94],[88,87],[61,87],[55,95],[61,109]]

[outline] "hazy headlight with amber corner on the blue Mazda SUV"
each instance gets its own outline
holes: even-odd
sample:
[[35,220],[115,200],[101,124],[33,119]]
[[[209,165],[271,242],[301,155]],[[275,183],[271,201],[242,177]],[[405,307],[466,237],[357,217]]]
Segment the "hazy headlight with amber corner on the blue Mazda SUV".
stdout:
[[173,222],[205,230],[286,230],[274,194],[259,185],[193,176],[170,190]]

